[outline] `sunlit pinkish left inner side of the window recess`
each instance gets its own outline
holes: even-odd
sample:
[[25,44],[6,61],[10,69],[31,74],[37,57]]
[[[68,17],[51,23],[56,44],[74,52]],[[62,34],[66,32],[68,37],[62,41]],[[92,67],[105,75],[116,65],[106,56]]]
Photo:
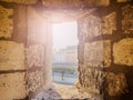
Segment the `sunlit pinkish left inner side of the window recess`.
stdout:
[[49,38],[47,18],[33,7],[28,7],[27,79],[30,98],[51,86],[52,38]]

